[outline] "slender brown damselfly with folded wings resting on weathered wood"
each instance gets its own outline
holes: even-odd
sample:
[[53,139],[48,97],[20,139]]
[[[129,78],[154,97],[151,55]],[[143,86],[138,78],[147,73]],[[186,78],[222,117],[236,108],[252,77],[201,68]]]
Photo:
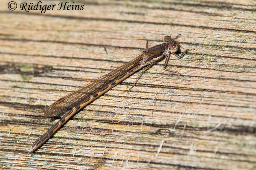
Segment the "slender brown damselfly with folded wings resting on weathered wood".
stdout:
[[65,122],[67,122],[67,120],[70,119],[70,117],[72,117],[77,111],[84,108],[84,106],[97,99],[99,96],[113,88],[119,82],[122,82],[131,74],[134,74],[136,71],[143,69],[136,81],[134,82],[134,85],[145,70],[150,68],[152,65],[154,65],[164,57],[166,57],[166,61],[163,65],[163,68],[166,71],[171,71],[166,68],[170,57],[169,54],[173,54],[178,58],[182,58],[184,54],[189,51],[186,50],[181,54],[181,56],[178,56],[177,54],[175,54],[177,50],[178,43],[175,41],[175,39],[172,39],[169,35],[167,35],[163,38],[162,44],[155,45],[151,48],[146,49],[135,59],[132,59],[131,61],[125,63],[119,68],[116,68],[105,76],[94,80],[93,82],[85,85],[84,87],[79,88],[78,90],[64,97],[61,97],[56,102],[52,103],[52,105],[50,105],[45,110],[45,116],[51,117],[55,116],[56,114],[64,113],[66,111],[67,113],[31,145],[31,147],[29,148],[29,152],[32,152],[33,150],[44,144],[44,142],[46,142],[47,139],[49,139],[56,132],[56,130],[58,130]]

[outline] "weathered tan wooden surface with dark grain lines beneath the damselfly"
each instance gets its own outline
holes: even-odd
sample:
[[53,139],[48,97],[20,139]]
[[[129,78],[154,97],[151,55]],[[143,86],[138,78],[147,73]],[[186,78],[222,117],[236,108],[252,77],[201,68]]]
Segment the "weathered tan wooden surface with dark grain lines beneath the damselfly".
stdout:
[[[45,14],[9,11],[8,2],[0,7],[0,169],[256,169],[255,1],[79,0],[83,11]],[[182,75],[161,61],[128,94],[132,75],[28,154],[58,121],[45,107],[169,33],[182,34],[181,51],[195,48],[170,59]]]

